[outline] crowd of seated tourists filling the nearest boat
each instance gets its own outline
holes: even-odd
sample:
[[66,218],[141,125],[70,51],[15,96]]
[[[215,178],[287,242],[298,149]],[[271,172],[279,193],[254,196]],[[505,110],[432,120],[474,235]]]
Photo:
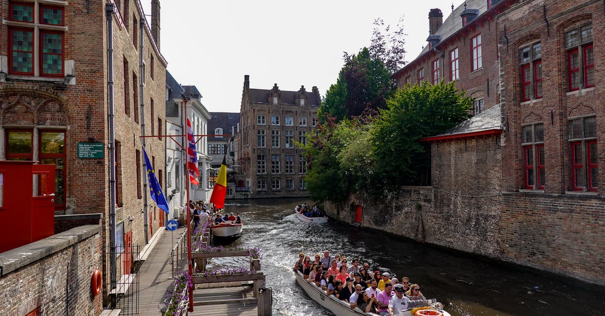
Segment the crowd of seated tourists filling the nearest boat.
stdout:
[[411,283],[410,278],[399,280],[388,272],[372,272],[367,262],[330,255],[327,250],[314,256],[301,252],[293,269],[325,291],[325,295],[345,301],[351,309],[358,307],[364,312],[391,316],[422,306],[426,300],[420,286]]

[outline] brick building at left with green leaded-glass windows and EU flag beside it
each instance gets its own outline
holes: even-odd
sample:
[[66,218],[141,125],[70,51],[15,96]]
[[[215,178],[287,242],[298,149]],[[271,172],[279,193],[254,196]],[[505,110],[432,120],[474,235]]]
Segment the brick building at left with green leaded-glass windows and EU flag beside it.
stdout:
[[[126,243],[119,249],[144,246],[164,225],[163,212],[151,199],[145,211],[139,137],[153,133],[154,124],[155,133],[161,133],[165,122],[166,61],[159,50],[159,1],[152,2],[149,25],[139,1],[110,1],[116,6],[108,25],[102,1],[1,0],[0,159],[56,165],[55,214],[103,214],[103,244],[109,245],[108,104],[113,98],[116,224],[123,228],[117,239]],[[108,41],[113,41],[113,64],[108,64]],[[79,154],[79,145],[90,143],[101,151],[94,158]],[[146,139],[146,150],[162,183],[165,140]],[[131,263],[132,258],[119,257],[118,274],[128,274]]]

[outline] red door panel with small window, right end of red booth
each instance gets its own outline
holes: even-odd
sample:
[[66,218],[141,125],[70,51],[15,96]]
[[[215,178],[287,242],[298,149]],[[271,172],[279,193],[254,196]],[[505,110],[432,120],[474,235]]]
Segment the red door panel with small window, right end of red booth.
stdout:
[[31,241],[54,234],[54,165],[33,165]]

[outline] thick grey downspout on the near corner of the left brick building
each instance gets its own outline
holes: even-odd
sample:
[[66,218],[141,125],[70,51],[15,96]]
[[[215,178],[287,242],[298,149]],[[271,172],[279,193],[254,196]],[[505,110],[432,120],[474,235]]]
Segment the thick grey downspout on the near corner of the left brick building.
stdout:
[[113,3],[105,4],[107,15],[107,99],[109,103],[108,127],[110,130],[110,281],[116,288],[116,134],[114,129],[113,104]]

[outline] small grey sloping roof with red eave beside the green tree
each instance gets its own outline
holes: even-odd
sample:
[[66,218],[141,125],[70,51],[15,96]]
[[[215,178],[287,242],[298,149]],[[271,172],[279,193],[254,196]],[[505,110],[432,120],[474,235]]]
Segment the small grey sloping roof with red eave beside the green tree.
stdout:
[[464,137],[488,136],[502,133],[502,114],[500,105],[488,108],[482,113],[459,123],[453,128],[436,136],[424,137],[420,140],[431,142],[437,140],[456,139]]

